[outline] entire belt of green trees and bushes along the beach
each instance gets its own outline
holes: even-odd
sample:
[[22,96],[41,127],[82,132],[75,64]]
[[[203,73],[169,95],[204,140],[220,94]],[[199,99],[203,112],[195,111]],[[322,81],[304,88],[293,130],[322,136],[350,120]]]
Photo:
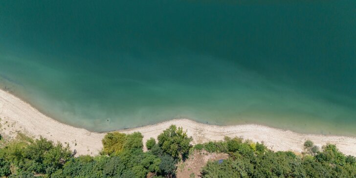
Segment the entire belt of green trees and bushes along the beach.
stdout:
[[[355,178],[356,158],[345,156],[335,145],[322,151],[308,143],[310,154],[273,152],[262,143],[243,142],[225,137],[191,147],[191,137],[171,126],[148,141],[143,152],[142,134],[107,134],[100,156],[78,156],[68,145],[54,144],[45,138],[32,140],[21,134],[0,149],[0,177],[9,178],[147,178],[175,177],[180,156],[189,149],[228,154],[223,161],[208,161],[201,170],[203,178]],[[171,145],[174,145],[171,147]],[[188,149],[188,150],[187,150]],[[191,174],[190,177],[195,177]]]

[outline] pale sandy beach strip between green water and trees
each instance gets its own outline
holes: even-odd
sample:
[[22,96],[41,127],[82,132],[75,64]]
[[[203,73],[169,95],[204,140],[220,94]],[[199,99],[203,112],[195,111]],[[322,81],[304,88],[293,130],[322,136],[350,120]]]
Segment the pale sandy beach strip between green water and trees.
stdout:
[[[71,149],[77,150],[78,155],[98,154],[102,148],[101,139],[105,135],[105,133],[89,132],[55,121],[3,90],[0,90],[0,118],[2,125],[0,134],[9,139],[14,138],[18,132],[36,138],[42,135],[55,142],[68,142]],[[145,143],[150,137],[156,138],[172,124],[187,130],[187,134],[193,136],[194,144],[209,140],[222,140],[224,136],[239,136],[255,142],[263,141],[268,148],[274,151],[302,152],[304,141],[310,139],[318,146],[326,143],[335,144],[341,152],[356,156],[356,137],[298,134],[253,124],[215,126],[200,124],[189,119],[175,119],[120,132],[141,132]]]

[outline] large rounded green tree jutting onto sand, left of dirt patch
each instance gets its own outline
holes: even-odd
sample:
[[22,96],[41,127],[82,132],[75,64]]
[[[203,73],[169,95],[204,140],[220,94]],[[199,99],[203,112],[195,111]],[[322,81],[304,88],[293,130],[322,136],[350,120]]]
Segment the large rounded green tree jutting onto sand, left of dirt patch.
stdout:
[[159,134],[157,139],[158,145],[164,152],[173,157],[182,156],[183,158],[189,153],[190,142],[193,140],[192,137],[187,136],[186,132],[183,132],[181,127],[177,129],[175,125],[171,125],[162,134]]

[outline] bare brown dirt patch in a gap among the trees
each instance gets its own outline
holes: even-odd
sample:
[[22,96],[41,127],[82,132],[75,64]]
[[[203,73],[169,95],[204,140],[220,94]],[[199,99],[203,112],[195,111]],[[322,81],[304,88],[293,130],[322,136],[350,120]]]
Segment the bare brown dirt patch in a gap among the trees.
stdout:
[[205,150],[195,150],[184,162],[178,164],[177,178],[189,178],[194,174],[195,178],[200,178],[201,168],[205,166],[208,160],[227,159],[228,155],[224,153],[209,153]]

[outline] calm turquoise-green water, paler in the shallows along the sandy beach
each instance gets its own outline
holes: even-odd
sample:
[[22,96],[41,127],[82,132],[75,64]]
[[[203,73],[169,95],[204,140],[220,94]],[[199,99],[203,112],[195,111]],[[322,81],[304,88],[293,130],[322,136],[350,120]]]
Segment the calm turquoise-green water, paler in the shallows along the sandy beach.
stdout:
[[0,1],[0,86],[91,131],[356,135],[356,1]]

